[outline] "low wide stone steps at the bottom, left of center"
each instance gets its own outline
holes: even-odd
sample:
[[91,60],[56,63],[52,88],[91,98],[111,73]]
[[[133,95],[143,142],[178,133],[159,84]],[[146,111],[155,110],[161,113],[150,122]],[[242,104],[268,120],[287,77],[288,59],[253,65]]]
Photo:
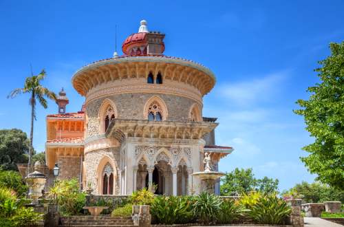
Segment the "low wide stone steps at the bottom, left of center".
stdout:
[[61,217],[61,226],[116,226],[116,227],[132,227],[133,220],[131,217],[110,217],[108,215],[100,216],[69,216]]

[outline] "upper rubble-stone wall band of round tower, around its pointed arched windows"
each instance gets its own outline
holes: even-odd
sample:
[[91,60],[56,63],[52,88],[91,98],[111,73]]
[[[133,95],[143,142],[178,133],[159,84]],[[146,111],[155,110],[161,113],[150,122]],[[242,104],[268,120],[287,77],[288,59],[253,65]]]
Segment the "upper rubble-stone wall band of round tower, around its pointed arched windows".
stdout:
[[147,100],[153,96],[158,96],[164,100],[168,116],[166,120],[174,121],[187,121],[189,119],[189,111],[191,106],[195,103],[190,98],[184,98],[182,96],[173,96],[167,94],[117,94],[113,96],[107,96],[99,98],[87,103],[86,113],[88,117],[87,122],[87,137],[96,136],[99,134],[99,120],[98,112],[100,105],[102,105],[105,98],[112,100],[118,111],[116,118],[120,119],[144,119],[144,105]]

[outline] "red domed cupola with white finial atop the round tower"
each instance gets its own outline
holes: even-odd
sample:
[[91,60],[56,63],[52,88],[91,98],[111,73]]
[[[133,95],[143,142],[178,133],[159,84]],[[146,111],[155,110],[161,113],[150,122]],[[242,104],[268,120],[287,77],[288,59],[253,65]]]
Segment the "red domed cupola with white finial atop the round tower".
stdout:
[[165,50],[164,34],[149,32],[147,21],[142,20],[138,33],[131,34],[122,44],[127,56],[162,55]]

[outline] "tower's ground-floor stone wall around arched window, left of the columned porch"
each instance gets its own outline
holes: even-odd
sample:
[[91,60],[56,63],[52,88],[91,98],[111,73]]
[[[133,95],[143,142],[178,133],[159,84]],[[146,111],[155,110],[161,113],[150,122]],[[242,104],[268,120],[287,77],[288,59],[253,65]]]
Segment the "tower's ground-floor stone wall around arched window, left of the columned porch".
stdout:
[[[119,147],[109,148],[109,149],[99,149],[96,151],[89,151],[85,153],[85,180],[86,184],[91,183],[95,194],[99,194],[99,183],[102,179],[97,175],[98,166],[103,158],[110,158],[111,162],[114,162],[114,191],[116,194],[119,193],[116,189],[119,184],[118,168],[120,166],[120,149]],[[98,179],[99,178],[99,179]]]

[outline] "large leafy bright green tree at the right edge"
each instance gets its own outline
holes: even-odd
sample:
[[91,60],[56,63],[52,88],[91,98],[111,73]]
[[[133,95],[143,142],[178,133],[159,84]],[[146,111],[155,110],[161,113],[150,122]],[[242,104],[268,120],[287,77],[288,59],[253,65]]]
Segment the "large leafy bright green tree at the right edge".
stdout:
[[317,180],[344,189],[344,42],[330,44],[331,55],[315,69],[321,83],[308,87],[309,100],[297,100],[307,131],[315,138],[303,147],[310,153],[301,160]]

